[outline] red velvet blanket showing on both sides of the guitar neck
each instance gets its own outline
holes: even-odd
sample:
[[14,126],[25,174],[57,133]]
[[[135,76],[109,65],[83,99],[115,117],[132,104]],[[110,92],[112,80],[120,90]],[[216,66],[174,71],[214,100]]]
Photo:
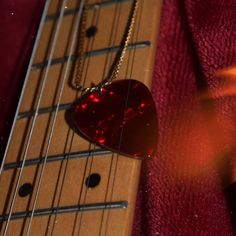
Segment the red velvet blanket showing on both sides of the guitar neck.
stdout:
[[[42,2],[0,3],[0,147]],[[236,99],[200,94],[222,90],[216,73],[236,64],[236,1],[164,0],[162,12],[158,155],[143,163],[133,235],[233,235]]]

